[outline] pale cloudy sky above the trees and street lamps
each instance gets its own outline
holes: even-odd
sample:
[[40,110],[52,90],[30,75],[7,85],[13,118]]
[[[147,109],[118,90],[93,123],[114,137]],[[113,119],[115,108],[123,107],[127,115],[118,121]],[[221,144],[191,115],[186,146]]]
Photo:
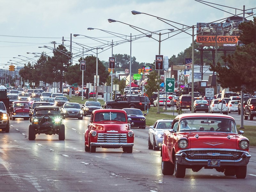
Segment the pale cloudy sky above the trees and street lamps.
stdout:
[[[68,51],[70,51],[70,41],[72,42],[74,56],[82,56],[82,47],[92,50],[104,46],[103,50],[98,49],[98,58],[108,61],[112,56],[109,44],[113,40],[115,44],[113,54],[130,55],[132,48],[132,57],[136,57],[138,62],[153,63],[156,55],[159,54],[159,46],[160,54],[170,58],[183,52],[192,43],[192,29],[188,30],[188,34],[184,32],[178,34],[176,28],[191,27],[199,22],[213,22],[227,18],[231,13],[240,14],[243,5],[245,10],[256,7],[255,0],[208,0],[207,2],[214,3],[210,5],[218,9],[195,0],[0,0],[0,69],[8,69],[11,63],[22,66],[28,61],[35,62],[38,59],[36,55],[39,54],[31,53],[45,52],[52,56],[54,45],[58,47],[62,44],[62,38],[66,40],[64,45]],[[133,15],[131,13],[133,10],[147,14]],[[256,13],[256,9],[253,12]],[[165,23],[150,15],[170,21]],[[109,23],[108,19],[120,22]],[[247,19],[252,20],[252,16]],[[87,28],[95,29],[89,31]],[[170,32],[167,29],[171,28],[175,30],[161,35],[159,44],[158,33]],[[119,37],[102,30],[114,32]],[[138,39],[139,36],[144,36],[143,33],[147,33],[146,30],[159,32],[152,35],[154,39],[148,37]],[[80,36],[74,37],[74,34]],[[137,36],[137,39],[132,40],[132,44],[126,40],[123,44],[117,44],[123,39],[129,40],[131,34],[133,38]],[[97,42],[95,38],[107,45]],[[38,48],[44,46],[46,48]],[[96,51],[96,49],[86,51],[84,48],[84,57],[85,54],[96,56]],[[78,63],[78,59],[74,58],[73,63]]]

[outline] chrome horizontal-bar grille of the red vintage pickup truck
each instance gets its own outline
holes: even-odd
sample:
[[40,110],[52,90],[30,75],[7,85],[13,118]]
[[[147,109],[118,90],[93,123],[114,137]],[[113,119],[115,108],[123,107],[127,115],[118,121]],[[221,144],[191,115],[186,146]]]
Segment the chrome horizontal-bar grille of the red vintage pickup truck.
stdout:
[[99,133],[99,143],[127,143],[127,136],[125,133],[113,134],[113,133]]

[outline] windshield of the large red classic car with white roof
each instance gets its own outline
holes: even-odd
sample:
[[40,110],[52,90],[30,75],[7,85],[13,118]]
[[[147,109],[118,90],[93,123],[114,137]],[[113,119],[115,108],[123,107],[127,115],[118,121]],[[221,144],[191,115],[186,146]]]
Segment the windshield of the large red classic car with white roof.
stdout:
[[181,119],[177,132],[237,133],[234,120],[220,117],[192,117]]

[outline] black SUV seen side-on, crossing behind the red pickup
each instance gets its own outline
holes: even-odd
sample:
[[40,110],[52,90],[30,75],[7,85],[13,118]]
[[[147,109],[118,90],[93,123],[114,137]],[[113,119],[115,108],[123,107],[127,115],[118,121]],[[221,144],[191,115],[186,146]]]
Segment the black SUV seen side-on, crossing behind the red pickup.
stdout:
[[[145,102],[146,101],[146,102]],[[150,108],[150,101],[146,96],[140,95],[126,95],[120,96],[112,101],[106,101],[104,108],[108,109],[123,109],[123,108],[137,108],[140,110],[144,110],[146,103],[146,109]]]

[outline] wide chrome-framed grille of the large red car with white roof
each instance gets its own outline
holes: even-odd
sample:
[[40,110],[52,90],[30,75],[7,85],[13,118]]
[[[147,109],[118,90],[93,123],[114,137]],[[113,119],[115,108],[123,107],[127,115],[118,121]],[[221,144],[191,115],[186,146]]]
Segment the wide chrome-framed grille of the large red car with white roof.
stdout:
[[[188,159],[220,159],[220,160],[237,160],[241,158],[242,152],[228,150],[190,150],[185,152]],[[191,156],[194,153],[194,156]],[[236,157],[233,156],[236,154]]]

